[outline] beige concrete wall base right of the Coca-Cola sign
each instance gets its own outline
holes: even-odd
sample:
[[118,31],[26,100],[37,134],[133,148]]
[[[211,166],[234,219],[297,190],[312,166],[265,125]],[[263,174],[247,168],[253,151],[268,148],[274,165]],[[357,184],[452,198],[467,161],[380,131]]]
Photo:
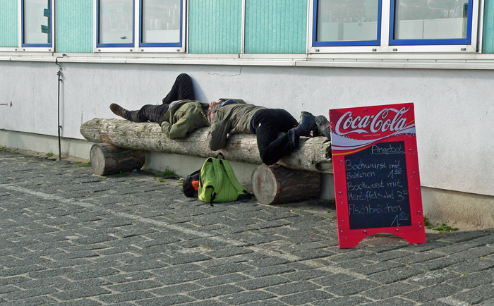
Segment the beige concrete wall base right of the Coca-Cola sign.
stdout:
[[423,212],[432,223],[462,229],[494,227],[494,197],[422,187]]

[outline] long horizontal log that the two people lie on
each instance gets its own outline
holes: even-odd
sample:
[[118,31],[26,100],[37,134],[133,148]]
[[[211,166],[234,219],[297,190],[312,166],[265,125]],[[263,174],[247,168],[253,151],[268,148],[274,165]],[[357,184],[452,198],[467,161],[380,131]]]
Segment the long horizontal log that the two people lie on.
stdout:
[[[135,123],[118,119],[94,118],[83,123],[80,133],[91,142],[108,142],[124,149],[215,157],[218,152],[207,144],[207,128],[199,128],[181,140],[171,140],[157,123]],[[263,164],[255,135],[229,135],[227,147],[220,150],[225,159]],[[289,169],[332,173],[331,142],[326,137],[300,138],[300,147],[279,162]]]

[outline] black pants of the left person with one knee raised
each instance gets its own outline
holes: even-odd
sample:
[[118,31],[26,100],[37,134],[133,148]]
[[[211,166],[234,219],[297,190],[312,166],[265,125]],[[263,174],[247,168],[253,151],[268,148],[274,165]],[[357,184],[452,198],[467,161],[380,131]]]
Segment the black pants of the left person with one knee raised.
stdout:
[[160,126],[163,123],[164,114],[167,113],[169,104],[177,100],[195,100],[194,88],[191,77],[186,73],[182,73],[171,86],[167,97],[163,98],[161,105],[145,105],[138,111],[127,111],[125,116],[127,120],[134,122],[157,122]]

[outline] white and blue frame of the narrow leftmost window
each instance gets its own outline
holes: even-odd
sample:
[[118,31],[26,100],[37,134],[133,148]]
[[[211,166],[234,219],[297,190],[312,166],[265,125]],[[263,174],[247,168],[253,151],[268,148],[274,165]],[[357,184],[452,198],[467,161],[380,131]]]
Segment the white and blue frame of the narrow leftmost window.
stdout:
[[56,42],[56,1],[55,0],[49,0],[49,4],[51,6],[51,13],[49,16],[49,21],[51,24],[51,29],[50,29],[50,43],[47,44],[25,44],[24,43],[24,38],[25,38],[25,30],[24,30],[24,2],[25,0],[19,0],[18,1],[18,16],[19,16],[19,29],[18,29],[18,49],[20,51],[37,51],[37,52],[54,52],[55,51],[55,42]]

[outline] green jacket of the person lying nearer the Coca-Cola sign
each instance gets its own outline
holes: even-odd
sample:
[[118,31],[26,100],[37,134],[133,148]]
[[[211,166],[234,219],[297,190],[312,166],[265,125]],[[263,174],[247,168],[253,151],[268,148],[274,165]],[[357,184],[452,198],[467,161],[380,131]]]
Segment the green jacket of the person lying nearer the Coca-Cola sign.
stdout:
[[210,149],[223,149],[227,145],[228,134],[252,134],[252,117],[261,109],[266,108],[252,104],[229,104],[220,107],[212,116],[211,127],[207,133]]

